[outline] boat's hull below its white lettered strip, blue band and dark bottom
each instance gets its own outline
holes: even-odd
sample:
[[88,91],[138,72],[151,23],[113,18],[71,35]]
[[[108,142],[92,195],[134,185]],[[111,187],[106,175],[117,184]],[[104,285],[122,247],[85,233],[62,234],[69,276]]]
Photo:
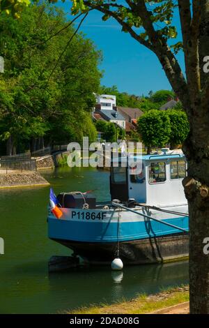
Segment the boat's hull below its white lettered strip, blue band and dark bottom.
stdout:
[[[118,221],[117,216],[112,215],[104,220],[86,221],[69,215],[63,220],[48,216],[49,238],[93,264],[111,262],[118,245],[120,257],[127,264],[167,262],[188,256],[188,234],[168,225],[139,216],[124,216]],[[185,216],[162,221],[188,229]]]

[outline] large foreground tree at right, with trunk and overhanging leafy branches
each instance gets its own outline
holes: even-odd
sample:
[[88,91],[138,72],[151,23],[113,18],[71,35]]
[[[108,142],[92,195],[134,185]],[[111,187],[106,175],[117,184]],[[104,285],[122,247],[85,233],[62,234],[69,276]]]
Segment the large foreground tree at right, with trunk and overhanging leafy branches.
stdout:
[[[54,1],[54,0],[53,0]],[[154,52],[175,94],[187,112],[190,132],[183,150],[187,156],[185,195],[189,204],[190,312],[209,313],[209,256],[203,240],[209,237],[209,78],[204,69],[209,56],[209,0],[72,0],[72,13],[88,8],[113,17],[122,30]],[[182,43],[172,24],[178,10]],[[183,47],[185,75],[176,59]]]

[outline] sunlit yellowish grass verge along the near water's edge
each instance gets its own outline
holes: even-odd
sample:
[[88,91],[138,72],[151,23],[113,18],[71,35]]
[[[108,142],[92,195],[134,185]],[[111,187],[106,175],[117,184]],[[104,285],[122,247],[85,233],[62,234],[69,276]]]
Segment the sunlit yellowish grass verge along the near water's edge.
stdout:
[[78,308],[73,311],[66,311],[68,314],[143,314],[153,313],[162,308],[174,306],[189,301],[189,287],[181,285],[176,288],[163,290],[156,295],[139,295],[131,301],[121,301],[114,304],[90,305],[89,307]]

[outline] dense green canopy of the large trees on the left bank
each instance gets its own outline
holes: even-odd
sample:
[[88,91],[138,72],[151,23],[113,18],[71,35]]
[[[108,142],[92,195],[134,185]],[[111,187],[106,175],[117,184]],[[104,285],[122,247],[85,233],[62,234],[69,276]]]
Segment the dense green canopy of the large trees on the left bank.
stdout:
[[72,38],[75,29],[67,25],[63,12],[47,4],[30,5],[20,20],[0,16],[5,60],[0,138],[9,151],[11,145],[22,145],[19,150],[24,151],[31,139],[40,137],[47,142],[96,138],[90,111],[100,85],[101,54],[82,34]]

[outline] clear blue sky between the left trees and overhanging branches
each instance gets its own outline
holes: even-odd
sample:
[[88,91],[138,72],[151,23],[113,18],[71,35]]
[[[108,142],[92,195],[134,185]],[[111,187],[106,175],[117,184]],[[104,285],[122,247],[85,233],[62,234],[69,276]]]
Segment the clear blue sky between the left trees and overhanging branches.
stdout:
[[[71,1],[58,2],[70,16]],[[150,90],[171,89],[162,66],[155,54],[137,43],[130,34],[121,32],[121,27],[113,19],[101,20],[102,14],[96,10],[88,13],[80,31],[91,38],[98,50],[102,50],[103,61],[100,69],[104,70],[101,84],[111,87],[116,85],[119,91],[129,94],[147,95]],[[78,24],[78,23],[77,23]],[[174,24],[180,29],[178,15]],[[178,54],[183,65],[183,54]]]

